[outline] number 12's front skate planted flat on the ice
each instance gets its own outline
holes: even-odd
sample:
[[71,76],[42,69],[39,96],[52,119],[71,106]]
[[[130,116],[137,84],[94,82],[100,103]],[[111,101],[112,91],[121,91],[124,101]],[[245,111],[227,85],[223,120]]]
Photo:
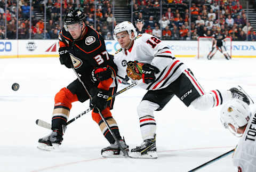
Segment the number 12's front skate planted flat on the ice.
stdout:
[[132,149],[129,157],[131,158],[157,158],[156,153],[156,137],[154,139],[147,139],[141,143],[140,146]]

